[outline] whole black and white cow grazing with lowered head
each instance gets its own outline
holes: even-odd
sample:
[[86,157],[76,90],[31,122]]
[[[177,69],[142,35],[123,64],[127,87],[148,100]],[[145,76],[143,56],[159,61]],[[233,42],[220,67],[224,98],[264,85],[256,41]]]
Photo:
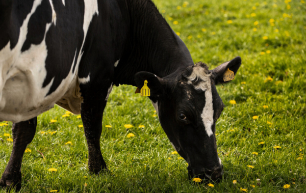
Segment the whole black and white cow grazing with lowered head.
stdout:
[[100,151],[113,85],[151,90],[149,99],[190,177],[222,177],[216,85],[235,58],[208,70],[150,0],[0,0],[0,120],[14,122],[13,151],[0,185],[21,187],[21,161],[37,116],[54,104],[81,114],[90,172],[108,170]]

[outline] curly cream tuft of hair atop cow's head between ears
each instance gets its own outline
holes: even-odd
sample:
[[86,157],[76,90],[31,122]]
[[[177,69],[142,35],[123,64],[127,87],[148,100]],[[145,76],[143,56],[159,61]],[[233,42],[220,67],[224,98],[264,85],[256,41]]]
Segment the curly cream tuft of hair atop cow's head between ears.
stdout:
[[183,76],[188,80],[188,84],[193,85],[196,90],[202,91],[206,91],[210,86],[211,75],[207,64],[202,62],[198,62],[194,66],[188,67],[183,73]]

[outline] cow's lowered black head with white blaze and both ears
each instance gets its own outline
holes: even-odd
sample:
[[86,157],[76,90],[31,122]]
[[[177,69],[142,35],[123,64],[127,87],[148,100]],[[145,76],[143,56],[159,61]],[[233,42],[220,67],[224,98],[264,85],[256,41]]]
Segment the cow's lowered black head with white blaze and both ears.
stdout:
[[149,97],[158,112],[160,123],[173,148],[188,162],[190,177],[218,180],[223,166],[218,157],[215,128],[224,104],[216,85],[224,83],[227,69],[235,74],[240,57],[209,71],[206,64],[197,63],[167,77],[139,72],[136,84],[146,79]]

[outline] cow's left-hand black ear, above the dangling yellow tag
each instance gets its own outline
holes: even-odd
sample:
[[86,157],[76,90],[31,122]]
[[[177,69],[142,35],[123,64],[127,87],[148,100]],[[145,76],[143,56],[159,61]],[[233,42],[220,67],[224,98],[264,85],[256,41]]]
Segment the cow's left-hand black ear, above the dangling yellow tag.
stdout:
[[136,86],[141,89],[144,85],[144,81],[147,80],[147,86],[150,89],[152,96],[161,93],[163,79],[150,72],[137,72],[135,74]]

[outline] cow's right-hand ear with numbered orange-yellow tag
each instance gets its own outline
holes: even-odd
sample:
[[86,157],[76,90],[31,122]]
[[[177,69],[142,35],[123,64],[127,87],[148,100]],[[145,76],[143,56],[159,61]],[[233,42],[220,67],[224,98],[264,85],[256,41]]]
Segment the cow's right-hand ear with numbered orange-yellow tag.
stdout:
[[[210,70],[213,74],[215,84],[224,84],[233,80],[239,67],[241,65],[241,58],[236,57],[231,61],[225,62],[213,70]],[[233,74],[234,72],[234,74]]]

